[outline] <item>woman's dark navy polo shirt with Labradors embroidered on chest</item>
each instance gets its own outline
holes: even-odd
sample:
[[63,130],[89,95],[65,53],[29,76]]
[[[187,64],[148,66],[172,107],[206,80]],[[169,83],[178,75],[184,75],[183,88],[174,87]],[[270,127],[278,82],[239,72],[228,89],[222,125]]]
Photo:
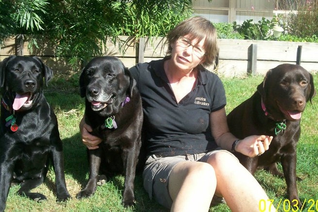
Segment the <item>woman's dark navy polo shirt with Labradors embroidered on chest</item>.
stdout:
[[204,68],[196,86],[179,103],[164,71],[164,59],[130,68],[142,98],[147,155],[176,156],[217,147],[209,114],[226,105],[218,76]]

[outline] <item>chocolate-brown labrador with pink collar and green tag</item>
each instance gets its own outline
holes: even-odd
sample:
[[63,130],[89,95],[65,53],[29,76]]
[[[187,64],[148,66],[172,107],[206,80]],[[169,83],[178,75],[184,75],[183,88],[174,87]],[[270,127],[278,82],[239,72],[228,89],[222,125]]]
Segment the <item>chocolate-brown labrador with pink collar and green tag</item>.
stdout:
[[[253,134],[273,136],[269,149],[254,158],[234,154],[252,174],[263,167],[285,177],[290,202],[301,202],[296,187],[296,146],[301,135],[301,113],[315,96],[313,76],[300,65],[282,64],[269,70],[251,98],[227,116],[230,131],[238,138]],[[281,173],[276,162],[281,162]]]

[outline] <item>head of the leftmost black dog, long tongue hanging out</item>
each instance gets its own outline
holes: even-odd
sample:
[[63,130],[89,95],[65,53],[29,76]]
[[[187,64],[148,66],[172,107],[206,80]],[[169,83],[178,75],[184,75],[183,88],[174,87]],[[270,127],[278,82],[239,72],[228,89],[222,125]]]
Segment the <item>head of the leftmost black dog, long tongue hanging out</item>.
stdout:
[[10,56],[0,63],[2,98],[15,111],[29,110],[42,95],[43,79],[47,85],[52,75],[37,57]]

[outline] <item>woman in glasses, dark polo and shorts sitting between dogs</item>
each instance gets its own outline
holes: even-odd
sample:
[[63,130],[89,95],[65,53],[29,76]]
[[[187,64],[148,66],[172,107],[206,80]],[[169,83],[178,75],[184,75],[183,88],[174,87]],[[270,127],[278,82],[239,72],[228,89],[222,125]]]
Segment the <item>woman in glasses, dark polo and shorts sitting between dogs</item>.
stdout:
[[[130,69],[143,100],[147,162],[144,187],[173,212],[206,212],[213,197],[224,197],[232,211],[259,211],[268,196],[229,151],[250,157],[272,140],[254,135],[239,140],[226,121],[226,98],[211,65],[218,53],[213,24],[191,17],[167,35],[167,57]],[[83,143],[98,148],[82,119]],[[220,148],[218,148],[220,147]],[[274,207],[268,210],[275,211]]]

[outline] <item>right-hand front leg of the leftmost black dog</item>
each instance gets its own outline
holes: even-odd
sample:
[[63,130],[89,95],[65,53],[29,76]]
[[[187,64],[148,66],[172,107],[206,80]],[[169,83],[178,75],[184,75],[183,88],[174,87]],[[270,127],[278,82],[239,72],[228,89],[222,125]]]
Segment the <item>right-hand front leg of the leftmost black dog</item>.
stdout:
[[68,194],[66,182],[65,182],[65,174],[64,174],[64,159],[62,152],[62,143],[59,141],[60,148],[53,149],[52,157],[54,163],[54,173],[55,173],[55,186],[56,186],[56,196],[57,201],[66,201],[70,198]]

